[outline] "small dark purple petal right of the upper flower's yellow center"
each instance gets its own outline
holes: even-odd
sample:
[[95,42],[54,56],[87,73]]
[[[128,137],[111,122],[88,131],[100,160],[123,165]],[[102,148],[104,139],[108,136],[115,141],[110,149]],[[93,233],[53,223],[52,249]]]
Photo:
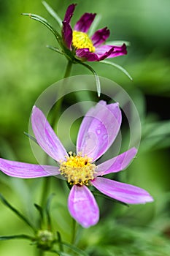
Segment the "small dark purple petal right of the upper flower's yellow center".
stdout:
[[93,45],[97,47],[98,45],[101,45],[103,42],[107,40],[109,37],[109,29],[104,28],[104,29],[98,29],[93,36],[91,37],[91,40],[93,42]]

